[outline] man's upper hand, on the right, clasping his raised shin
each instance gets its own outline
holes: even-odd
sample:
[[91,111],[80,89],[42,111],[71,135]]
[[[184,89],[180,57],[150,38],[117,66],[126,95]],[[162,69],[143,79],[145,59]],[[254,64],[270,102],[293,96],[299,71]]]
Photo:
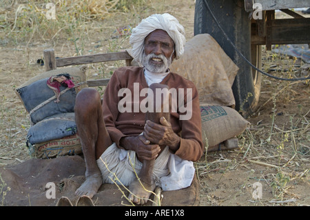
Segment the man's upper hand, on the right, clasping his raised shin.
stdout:
[[143,132],[144,137],[160,146],[169,146],[170,150],[176,152],[180,147],[180,137],[174,133],[171,123],[165,117],[161,117],[160,123],[147,120]]

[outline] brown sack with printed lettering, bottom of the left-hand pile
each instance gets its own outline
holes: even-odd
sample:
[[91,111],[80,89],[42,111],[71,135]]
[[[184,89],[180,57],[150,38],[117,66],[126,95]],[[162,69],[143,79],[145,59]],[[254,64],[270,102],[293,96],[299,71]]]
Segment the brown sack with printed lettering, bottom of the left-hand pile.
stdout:
[[41,159],[82,153],[81,141],[78,134],[45,141],[43,143],[30,144],[28,148],[32,157]]

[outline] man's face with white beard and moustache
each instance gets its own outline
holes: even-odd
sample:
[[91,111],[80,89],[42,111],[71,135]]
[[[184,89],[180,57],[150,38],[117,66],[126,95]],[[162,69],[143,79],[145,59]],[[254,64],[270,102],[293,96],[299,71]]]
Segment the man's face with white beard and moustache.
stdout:
[[173,59],[174,41],[165,30],[154,30],[145,38],[143,66],[151,72],[165,72]]

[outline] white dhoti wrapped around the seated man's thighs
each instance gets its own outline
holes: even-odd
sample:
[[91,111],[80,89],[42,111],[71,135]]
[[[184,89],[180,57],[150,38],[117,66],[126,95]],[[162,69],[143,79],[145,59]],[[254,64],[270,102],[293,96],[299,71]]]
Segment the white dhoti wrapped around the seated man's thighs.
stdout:
[[[124,186],[129,186],[136,179],[136,174],[139,174],[143,165],[138,161],[136,152],[118,148],[116,143],[107,148],[96,162],[101,170],[103,183],[115,181]],[[153,180],[163,190],[179,190],[191,185],[194,172],[192,161],[180,159],[166,147],[155,160]]]

